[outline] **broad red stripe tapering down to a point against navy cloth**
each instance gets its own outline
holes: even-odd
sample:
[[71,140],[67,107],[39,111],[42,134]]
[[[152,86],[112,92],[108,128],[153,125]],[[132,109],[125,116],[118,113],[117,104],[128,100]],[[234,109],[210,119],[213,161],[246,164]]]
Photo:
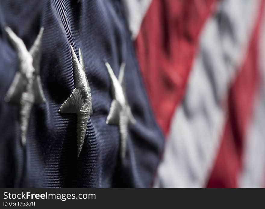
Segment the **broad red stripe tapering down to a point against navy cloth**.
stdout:
[[217,0],[153,0],[135,41],[145,88],[166,135],[182,100],[201,28]]

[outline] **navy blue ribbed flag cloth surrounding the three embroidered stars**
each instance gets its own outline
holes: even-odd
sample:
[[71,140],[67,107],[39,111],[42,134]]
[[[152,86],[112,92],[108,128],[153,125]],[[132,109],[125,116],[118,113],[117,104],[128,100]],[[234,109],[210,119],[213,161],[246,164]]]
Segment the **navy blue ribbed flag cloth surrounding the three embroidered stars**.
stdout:
[[[120,1],[0,1],[0,187],[149,187],[164,139],[152,115]],[[18,69],[9,26],[29,50],[44,27],[40,76],[46,103],[34,105],[23,148],[19,105],[4,101]],[[92,92],[82,151],[77,158],[76,114],[59,106],[74,88],[69,42],[81,48]],[[104,62],[118,77],[126,62],[129,125],[125,159],[118,126],[105,123],[112,102]]]

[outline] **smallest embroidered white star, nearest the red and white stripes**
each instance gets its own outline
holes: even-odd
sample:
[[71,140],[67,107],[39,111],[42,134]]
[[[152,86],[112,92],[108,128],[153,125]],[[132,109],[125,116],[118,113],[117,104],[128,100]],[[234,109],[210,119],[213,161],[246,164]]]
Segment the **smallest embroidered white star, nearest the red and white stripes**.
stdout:
[[105,63],[109,76],[111,78],[111,92],[113,101],[111,102],[110,112],[106,124],[118,125],[120,131],[120,157],[124,158],[126,154],[127,128],[128,124],[135,124],[131,108],[126,100],[124,69],[125,63],[120,66],[119,78],[114,75],[109,63]]

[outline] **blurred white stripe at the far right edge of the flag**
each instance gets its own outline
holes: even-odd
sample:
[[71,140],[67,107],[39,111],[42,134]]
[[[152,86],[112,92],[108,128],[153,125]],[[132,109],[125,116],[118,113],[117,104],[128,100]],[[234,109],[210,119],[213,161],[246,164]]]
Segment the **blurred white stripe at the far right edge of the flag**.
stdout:
[[263,187],[265,180],[265,15],[260,34],[259,61],[261,86],[254,106],[254,117],[246,137],[241,187]]

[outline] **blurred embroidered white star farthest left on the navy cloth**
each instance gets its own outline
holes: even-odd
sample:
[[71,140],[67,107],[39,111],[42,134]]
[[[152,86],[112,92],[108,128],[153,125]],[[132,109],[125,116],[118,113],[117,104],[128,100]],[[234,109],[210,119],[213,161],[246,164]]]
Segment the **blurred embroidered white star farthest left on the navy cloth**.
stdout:
[[33,104],[45,103],[39,75],[43,27],[40,29],[30,51],[9,27],[5,27],[5,31],[11,45],[17,51],[19,64],[19,71],[15,74],[5,101],[20,105],[20,136],[21,143],[24,146],[32,106]]

